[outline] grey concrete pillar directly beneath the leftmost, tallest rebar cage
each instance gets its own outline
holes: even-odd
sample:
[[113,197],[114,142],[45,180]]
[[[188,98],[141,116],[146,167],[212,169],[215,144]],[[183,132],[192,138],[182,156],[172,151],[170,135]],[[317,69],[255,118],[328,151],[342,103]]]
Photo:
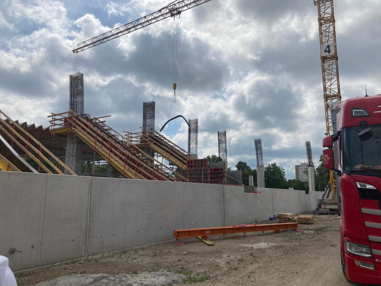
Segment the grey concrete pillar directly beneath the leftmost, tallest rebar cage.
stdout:
[[[82,155],[82,143],[79,138],[73,136],[69,133],[66,140],[66,155],[65,155],[65,165],[74,171],[76,174],[81,173],[81,160]],[[69,172],[65,170],[65,174],[69,175]]]

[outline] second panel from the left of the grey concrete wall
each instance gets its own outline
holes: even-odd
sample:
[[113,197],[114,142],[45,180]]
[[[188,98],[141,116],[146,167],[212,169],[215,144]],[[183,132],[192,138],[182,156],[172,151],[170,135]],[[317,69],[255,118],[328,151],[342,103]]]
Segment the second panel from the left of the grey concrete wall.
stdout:
[[90,177],[49,175],[41,265],[85,256]]

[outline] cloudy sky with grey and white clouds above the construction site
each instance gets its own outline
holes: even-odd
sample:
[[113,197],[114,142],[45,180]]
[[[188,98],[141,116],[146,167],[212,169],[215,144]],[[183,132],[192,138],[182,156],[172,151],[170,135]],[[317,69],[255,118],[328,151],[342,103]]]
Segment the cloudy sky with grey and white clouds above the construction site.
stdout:
[[[129,131],[142,125],[144,101],[156,102],[156,130],[178,114],[199,119],[199,157],[218,154],[227,131],[229,167],[264,164],[295,178],[310,140],[315,161],[325,133],[317,8],[312,0],[212,0],[97,47],[78,43],[131,22],[169,0],[0,1],[0,109],[48,126],[69,108],[69,74],[82,70],[85,112],[112,115]],[[378,0],[335,1],[342,98],[381,93]],[[177,25],[177,99],[173,99],[173,26]],[[170,112],[171,109],[171,112]],[[163,131],[187,148],[187,125]]]

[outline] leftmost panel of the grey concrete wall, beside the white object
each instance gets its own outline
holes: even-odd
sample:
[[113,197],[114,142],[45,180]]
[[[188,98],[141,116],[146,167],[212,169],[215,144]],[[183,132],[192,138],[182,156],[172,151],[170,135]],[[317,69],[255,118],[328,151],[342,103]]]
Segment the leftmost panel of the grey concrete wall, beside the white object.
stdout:
[[47,177],[0,172],[0,255],[13,271],[40,265]]

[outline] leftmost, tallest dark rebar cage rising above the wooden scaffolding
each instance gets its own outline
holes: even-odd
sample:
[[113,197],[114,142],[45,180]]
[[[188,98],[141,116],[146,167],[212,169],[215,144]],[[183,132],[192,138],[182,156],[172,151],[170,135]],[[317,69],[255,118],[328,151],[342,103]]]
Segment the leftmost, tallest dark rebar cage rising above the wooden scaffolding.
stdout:
[[69,109],[75,110],[77,114],[84,114],[84,102],[83,102],[83,73],[71,73],[69,75]]

